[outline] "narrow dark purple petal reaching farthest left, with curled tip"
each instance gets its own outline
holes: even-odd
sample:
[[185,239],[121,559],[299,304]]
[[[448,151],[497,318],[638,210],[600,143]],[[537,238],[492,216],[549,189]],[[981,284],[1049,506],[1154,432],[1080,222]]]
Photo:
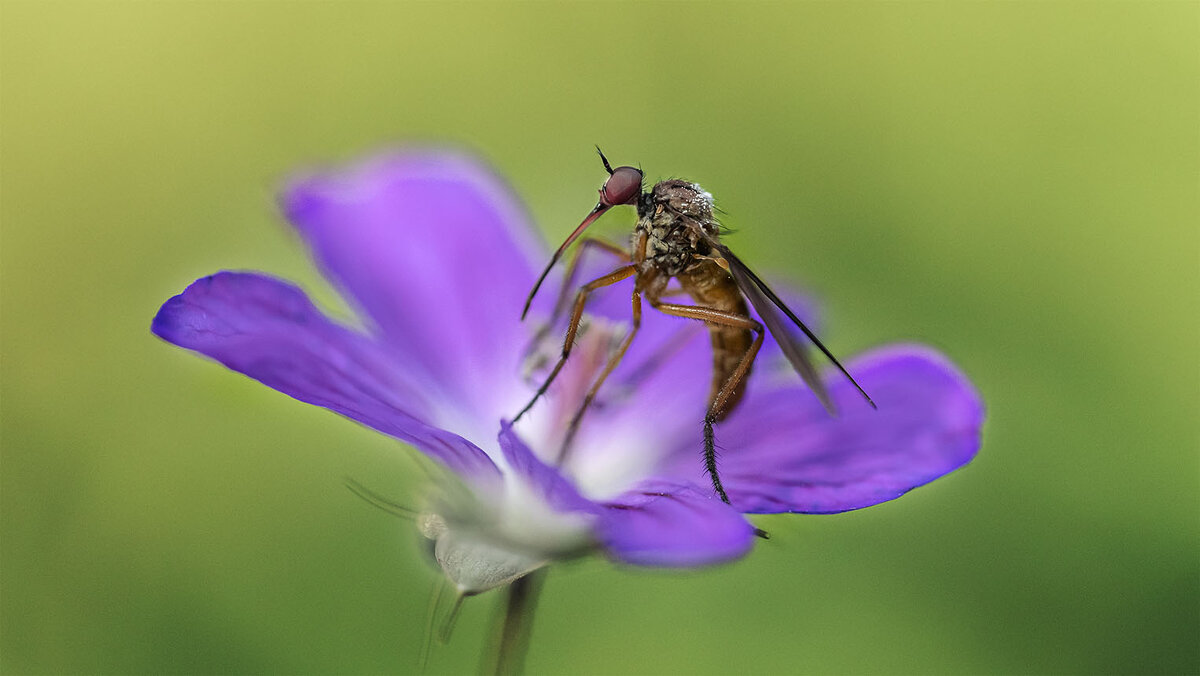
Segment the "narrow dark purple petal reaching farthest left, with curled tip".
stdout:
[[330,322],[292,285],[251,273],[203,277],[163,304],[151,330],[288,396],[416,445],[457,474],[499,479],[482,450],[418,419],[427,406],[384,352]]

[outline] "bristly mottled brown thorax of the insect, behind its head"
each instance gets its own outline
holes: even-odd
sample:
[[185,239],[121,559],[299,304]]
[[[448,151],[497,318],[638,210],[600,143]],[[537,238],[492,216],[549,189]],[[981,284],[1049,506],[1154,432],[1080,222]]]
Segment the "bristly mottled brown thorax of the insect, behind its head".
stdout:
[[668,180],[642,193],[637,203],[634,246],[646,234],[646,261],[673,276],[708,256],[712,247],[704,234],[716,237],[713,196],[694,183]]

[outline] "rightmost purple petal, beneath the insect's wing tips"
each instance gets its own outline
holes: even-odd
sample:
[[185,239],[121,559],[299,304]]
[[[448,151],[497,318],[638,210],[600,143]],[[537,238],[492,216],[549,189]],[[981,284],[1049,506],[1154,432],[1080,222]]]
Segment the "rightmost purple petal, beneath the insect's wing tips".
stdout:
[[845,378],[830,375],[836,418],[793,387],[751,394],[719,425],[721,478],[739,510],[859,509],[900,497],[974,456],[983,402],[944,357],[896,346],[847,367],[877,411]]

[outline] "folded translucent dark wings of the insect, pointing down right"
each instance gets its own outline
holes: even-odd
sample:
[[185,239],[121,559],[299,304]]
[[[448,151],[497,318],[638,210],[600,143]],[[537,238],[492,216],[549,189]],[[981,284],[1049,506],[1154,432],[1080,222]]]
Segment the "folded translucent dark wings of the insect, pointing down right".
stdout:
[[754,271],[751,271],[740,258],[734,256],[733,252],[730,251],[730,247],[716,241],[714,238],[706,237],[706,239],[716,253],[728,263],[730,274],[733,275],[733,281],[737,282],[738,288],[742,289],[742,293],[744,293],[750,300],[750,305],[754,305],[758,316],[762,317],[763,323],[767,324],[767,329],[770,331],[770,335],[773,335],[775,341],[779,342],[779,347],[784,351],[784,355],[787,357],[787,360],[792,364],[792,367],[796,369],[796,372],[800,375],[804,383],[812,389],[812,394],[817,396],[822,406],[826,407],[826,411],[830,414],[836,414],[833,400],[829,399],[829,390],[826,389],[820,373],[817,373],[816,367],[808,357],[808,351],[805,349],[806,346],[796,335],[794,329],[797,328],[800,329],[800,331],[810,341],[812,341],[812,345],[817,346],[817,348],[829,358],[829,361],[833,361],[833,365],[836,366],[838,370],[841,371],[842,375],[845,375],[846,378],[858,389],[859,394],[863,395],[863,399],[866,400],[866,403],[870,403],[871,408],[875,408],[875,402],[871,401],[871,397],[866,394],[866,391],[863,390],[850,372],[846,371],[845,366],[838,361],[838,358],[835,358],[824,343],[821,342],[821,339],[805,327],[804,322],[802,322],[800,318],[792,312],[787,304],[780,300],[780,298],[775,295],[775,292],[770,291],[770,287],[758,279],[758,275],[754,274]]

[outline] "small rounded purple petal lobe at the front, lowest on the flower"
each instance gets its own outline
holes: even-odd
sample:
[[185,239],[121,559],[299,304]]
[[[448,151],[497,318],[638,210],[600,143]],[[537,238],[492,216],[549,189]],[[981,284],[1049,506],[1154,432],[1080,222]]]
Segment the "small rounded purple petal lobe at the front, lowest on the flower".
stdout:
[[652,480],[605,503],[600,539],[608,552],[637,566],[690,567],[738,558],[754,527],[712,491]]

